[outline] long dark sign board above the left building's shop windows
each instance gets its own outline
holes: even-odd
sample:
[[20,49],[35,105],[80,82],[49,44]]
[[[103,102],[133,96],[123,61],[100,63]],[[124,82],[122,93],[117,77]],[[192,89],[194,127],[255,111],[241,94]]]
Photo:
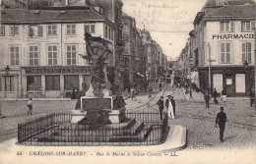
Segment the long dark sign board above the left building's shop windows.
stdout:
[[26,74],[90,74],[91,68],[86,67],[27,67]]

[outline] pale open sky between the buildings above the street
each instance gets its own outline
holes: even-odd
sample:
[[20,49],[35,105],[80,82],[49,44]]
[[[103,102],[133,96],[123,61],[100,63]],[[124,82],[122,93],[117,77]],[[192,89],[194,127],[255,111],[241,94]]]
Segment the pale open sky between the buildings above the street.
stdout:
[[123,12],[149,30],[169,60],[176,60],[207,0],[122,0]]

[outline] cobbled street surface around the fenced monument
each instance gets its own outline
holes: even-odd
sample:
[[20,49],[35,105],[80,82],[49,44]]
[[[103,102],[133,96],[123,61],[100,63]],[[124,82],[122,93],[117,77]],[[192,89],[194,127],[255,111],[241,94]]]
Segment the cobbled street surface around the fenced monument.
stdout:
[[[193,93],[194,99],[187,100],[182,89],[170,87],[168,84],[159,92],[158,84],[154,86],[153,96],[149,102],[148,93],[141,92],[136,100],[126,99],[129,111],[158,111],[156,105],[160,95],[173,95],[176,100],[176,118],[169,124],[181,125],[187,128],[187,149],[208,148],[246,148],[256,145],[256,111],[249,106],[249,99],[227,98],[220,99],[219,105],[211,103],[210,109],[205,108],[201,93]],[[212,102],[212,101],[211,101]],[[17,136],[17,124],[51,112],[65,112],[73,109],[76,101],[33,101],[33,115],[27,115],[27,101],[1,101],[2,113],[6,118],[0,119],[0,140],[4,141]],[[224,132],[224,142],[219,139],[219,128],[215,127],[219,107],[224,106],[227,124]]]

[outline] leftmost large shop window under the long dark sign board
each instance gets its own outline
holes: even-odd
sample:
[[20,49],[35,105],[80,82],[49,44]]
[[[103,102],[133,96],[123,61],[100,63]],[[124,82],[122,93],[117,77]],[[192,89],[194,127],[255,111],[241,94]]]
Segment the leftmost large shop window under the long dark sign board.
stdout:
[[41,89],[41,77],[40,76],[28,76],[27,77],[27,90],[39,91]]

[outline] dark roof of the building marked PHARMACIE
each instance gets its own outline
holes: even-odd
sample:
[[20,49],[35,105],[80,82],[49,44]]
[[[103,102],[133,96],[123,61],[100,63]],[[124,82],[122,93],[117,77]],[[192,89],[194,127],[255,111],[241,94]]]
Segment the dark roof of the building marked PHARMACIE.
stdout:
[[246,17],[256,18],[255,5],[226,5],[207,13],[206,17]]

